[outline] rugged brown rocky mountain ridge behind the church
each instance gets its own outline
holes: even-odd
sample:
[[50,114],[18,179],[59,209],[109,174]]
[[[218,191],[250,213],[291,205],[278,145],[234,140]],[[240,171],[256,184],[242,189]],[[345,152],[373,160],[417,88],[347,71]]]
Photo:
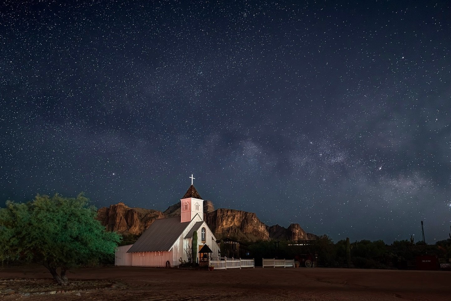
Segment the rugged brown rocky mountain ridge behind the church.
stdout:
[[[116,231],[123,235],[141,235],[157,218],[180,215],[180,203],[174,204],[164,212],[152,209],[130,208],[120,202],[97,211],[97,219],[107,231]],[[288,228],[279,225],[267,226],[255,213],[220,208],[215,210],[213,203],[204,201],[204,220],[217,239],[230,238],[237,241],[258,240],[311,240],[316,235],[306,233],[299,224]]]

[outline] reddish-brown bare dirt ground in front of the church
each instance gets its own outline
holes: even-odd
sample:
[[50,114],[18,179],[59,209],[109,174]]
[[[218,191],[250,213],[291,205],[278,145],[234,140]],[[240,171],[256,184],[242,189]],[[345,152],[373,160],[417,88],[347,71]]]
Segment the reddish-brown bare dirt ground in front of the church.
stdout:
[[[364,269],[256,268],[215,271],[103,267],[74,269],[69,280],[105,280],[113,288],[78,294],[20,294],[3,300],[297,300],[297,301],[450,301],[451,272]],[[41,267],[0,269],[5,279],[49,279]],[[64,289],[62,287],[61,289]]]

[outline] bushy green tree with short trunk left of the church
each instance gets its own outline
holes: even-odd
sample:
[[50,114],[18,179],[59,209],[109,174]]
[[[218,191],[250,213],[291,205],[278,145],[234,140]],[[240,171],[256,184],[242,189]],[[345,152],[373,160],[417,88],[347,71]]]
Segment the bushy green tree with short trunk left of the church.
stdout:
[[38,194],[26,204],[7,201],[0,209],[0,260],[42,264],[58,284],[67,285],[68,269],[112,256],[120,241],[87,204],[83,193],[76,198]]

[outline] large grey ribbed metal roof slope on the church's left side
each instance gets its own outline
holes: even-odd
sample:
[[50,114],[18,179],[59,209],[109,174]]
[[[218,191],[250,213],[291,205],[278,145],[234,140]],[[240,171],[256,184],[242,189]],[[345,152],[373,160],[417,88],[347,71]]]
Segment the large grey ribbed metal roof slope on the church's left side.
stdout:
[[180,222],[179,216],[156,219],[127,253],[169,251],[189,223]]

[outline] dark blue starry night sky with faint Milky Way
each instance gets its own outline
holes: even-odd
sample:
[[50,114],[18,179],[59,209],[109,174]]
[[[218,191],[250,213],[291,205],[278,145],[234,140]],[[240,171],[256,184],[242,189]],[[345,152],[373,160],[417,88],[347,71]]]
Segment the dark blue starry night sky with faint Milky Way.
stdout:
[[0,205],[84,191],[334,241],[448,238],[449,1],[0,6]]

